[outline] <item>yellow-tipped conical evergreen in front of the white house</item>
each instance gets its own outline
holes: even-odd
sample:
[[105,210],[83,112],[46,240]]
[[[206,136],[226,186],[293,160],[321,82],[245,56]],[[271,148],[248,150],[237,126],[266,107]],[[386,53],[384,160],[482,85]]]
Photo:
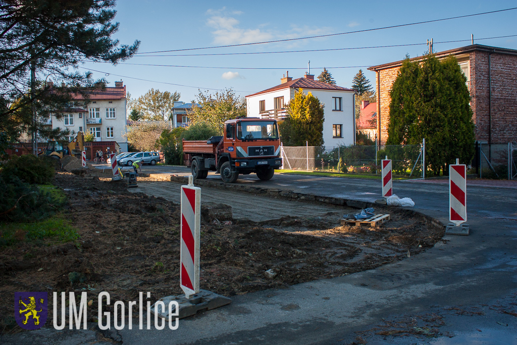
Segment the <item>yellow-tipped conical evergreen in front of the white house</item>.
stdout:
[[324,104],[310,92],[300,88],[285,105],[287,117],[279,125],[282,142],[286,146],[323,146]]

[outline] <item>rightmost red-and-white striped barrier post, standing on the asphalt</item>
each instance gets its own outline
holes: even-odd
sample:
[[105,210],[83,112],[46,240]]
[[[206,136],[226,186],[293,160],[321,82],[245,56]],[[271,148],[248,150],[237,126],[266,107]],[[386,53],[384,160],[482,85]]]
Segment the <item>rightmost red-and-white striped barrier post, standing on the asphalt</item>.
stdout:
[[449,165],[449,220],[460,226],[467,221],[467,167],[465,164]]

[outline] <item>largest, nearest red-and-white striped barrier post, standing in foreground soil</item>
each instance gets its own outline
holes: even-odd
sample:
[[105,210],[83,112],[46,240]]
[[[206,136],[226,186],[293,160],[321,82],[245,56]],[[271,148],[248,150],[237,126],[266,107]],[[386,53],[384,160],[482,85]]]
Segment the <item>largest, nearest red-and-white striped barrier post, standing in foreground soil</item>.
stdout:
[[199,293],[199,257],[201,232],[201,188],[181,186],[181,249],[179,286],[185,297]]

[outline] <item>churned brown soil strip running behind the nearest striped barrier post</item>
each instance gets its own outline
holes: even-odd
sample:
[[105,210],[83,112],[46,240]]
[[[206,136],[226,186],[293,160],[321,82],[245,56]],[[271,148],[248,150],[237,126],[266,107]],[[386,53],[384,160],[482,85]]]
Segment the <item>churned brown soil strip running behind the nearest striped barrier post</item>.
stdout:
[[[15,291],[87,291],[90,318],[101,291],[125,302],[139,292],[151,292],[153,301],[182,294],[178,204],[129,193],[124,181],[57,173],[54,184],[68,194],[65,216],[80,238],[0,250],[0,319],[12,318]],[[393,217],[377,231],[338,226],[335,216],[202,223],[200,286],[232,296],[351,274],[421,252],[443,236],[424,219]]]

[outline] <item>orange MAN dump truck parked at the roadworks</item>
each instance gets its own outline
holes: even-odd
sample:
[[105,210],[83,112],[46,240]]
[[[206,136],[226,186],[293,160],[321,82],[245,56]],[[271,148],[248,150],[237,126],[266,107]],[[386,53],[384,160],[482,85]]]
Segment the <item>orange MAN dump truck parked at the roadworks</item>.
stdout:
[[224,135],[207,141],[183,141],[183,160],[194,178],[206,178],[208,171],[221,174],[226,183],[239,174],[255,173],[268,180],[282,165],[277,122],[244,117],[226,121]]

